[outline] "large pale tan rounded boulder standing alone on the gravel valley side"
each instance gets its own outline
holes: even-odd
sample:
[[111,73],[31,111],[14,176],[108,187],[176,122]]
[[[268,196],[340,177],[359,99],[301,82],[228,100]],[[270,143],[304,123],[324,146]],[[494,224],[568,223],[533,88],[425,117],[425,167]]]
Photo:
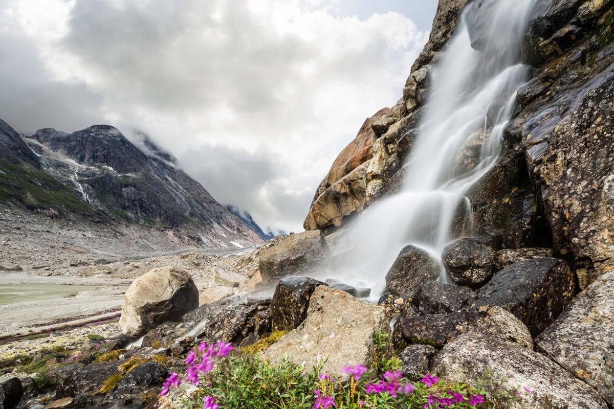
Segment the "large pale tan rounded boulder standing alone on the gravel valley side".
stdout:
[[179,321],[198,307],[198,289],[190,274],[175,267],[161,267],[132,282],[124,296],[119,326],[133,337],[165,321]]

